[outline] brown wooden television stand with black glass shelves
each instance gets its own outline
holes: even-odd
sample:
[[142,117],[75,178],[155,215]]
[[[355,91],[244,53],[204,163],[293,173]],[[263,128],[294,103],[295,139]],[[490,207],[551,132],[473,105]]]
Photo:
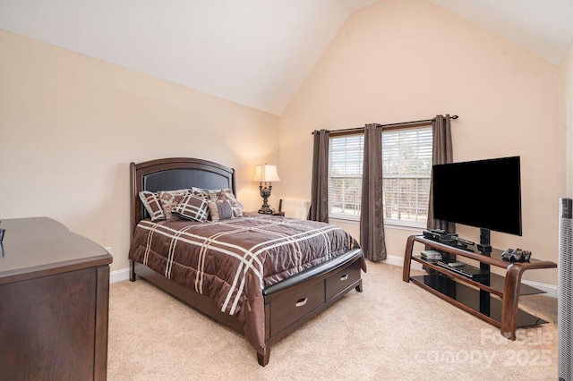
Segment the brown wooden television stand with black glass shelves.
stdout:
[[[430,247],[432,250],[473,259],[480,263],[482,269],[491,266],[505,268],[506,274],[502,276],[489,272],[489,276],[475,278],[459,274],[438,265],[436,260],[413,256],[415,242]],[[557,264],[537,259],[531,259],[530,262],[508,262],[501,259],[501,253],[502,250],[492,249],[490,256],[485,256],[477,250],[459,249],[429,240],[422,235],[410,235],[406,241],[402,280],[406,283],[411,281],[444,301],[449,301],[475,317],[500,327],[500,332],[504,337],[516,340],[517,327],[547,323],[517,308],[520,295],[543,293],[535,287],[521,284],[521,276],[526,270],[554,268]],[[411,276],[410,267],[413,260],[424,267],[432,268],[434,274]]]

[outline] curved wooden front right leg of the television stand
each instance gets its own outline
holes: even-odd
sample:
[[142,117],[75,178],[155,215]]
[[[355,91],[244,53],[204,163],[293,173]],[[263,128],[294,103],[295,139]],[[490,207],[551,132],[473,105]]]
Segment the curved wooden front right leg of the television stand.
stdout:
[[521,287],[523,267],[519,263],[512,263],[508,267],[503,286],[503,299],[501,304],[501,334],[509,340],[516,339],[517,303]]

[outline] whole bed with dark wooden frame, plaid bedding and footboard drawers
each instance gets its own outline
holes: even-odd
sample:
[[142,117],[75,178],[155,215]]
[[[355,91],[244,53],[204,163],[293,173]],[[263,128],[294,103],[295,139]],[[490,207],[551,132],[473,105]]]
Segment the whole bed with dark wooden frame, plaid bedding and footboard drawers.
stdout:
[[[202,203],[193,209],[197,220],[179,218],[180,198],[166,221],[140,197],[178,190],[188,190],[185,200],[206,200],[209,219]],[[186,157],[132,163],[130,280],[144,278],[244,334],[265,366],[273,343],[347,292],[363,291],[366,264],[344,230],[288,216],[235,216],[240,203],[227,205],[235,194],[235,170],[225,165]]]

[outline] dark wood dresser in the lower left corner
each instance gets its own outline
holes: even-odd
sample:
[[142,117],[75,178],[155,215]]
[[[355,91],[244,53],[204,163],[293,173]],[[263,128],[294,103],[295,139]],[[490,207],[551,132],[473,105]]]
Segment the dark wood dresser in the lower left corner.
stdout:
[[105,380],[111,255],[47,217],[0,228],[0,378]]

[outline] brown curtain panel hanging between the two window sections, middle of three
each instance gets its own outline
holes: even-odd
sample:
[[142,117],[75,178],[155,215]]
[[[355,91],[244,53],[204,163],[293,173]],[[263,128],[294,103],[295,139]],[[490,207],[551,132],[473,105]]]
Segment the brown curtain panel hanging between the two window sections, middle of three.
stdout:
[[386,259],[382,207],[382,131],[378,124],[364,128],[360,245],[373,262]]

